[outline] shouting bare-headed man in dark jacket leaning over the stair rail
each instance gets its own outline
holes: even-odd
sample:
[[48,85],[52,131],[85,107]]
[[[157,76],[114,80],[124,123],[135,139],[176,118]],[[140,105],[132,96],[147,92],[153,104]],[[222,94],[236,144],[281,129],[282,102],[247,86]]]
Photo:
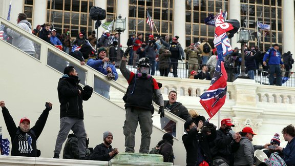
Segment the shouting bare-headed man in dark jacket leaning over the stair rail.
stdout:
[[[182,105],[181,102],[177,102],[177,92],[170,91],[168,94],[169,100],[164,100],[164,108],[167,111],[170,111],[174,115],[182,118],[183,120],[192,119],[191,115],[189,115],[187,109]],[[173,120],[170,120],[166,117],[161,118],[161,128],[165,130],[167,133],[176,136],[176,123]]]

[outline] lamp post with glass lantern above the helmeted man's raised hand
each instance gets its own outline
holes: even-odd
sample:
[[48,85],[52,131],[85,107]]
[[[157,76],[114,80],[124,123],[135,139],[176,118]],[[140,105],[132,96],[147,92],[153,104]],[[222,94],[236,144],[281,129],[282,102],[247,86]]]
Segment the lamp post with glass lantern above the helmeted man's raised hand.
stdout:
[[117,50],[117,58],[116,58],[116,68],[120,67],[120,59],[121,59],[121,49],[120,49],[120,39],[121,39],[121,32],[124,32],[126,26],[126,17],[122,19],[121,14],[116,17],[116,24],[115,24],[115,31],[118,32],[118,50]]

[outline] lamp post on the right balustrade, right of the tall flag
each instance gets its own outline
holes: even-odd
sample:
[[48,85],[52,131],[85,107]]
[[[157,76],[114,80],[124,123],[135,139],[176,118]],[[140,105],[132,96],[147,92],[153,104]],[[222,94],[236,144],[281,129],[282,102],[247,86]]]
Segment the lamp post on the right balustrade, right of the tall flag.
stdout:
[[241,64],[241,73],[238,78],[246,78],[249,79],[248,75],[245,73],[245,52],[244,52],[244,44],[249,41],[249,31],[245,28],[241,28],[241,30],[237,33],[237,42],[241,43],[241,54],[242,54],[242,64]]

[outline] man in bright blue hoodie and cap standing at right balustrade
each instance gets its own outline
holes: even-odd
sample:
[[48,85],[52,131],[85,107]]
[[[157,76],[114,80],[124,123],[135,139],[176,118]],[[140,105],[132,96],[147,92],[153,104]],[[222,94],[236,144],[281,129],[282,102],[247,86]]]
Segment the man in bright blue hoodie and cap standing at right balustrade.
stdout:
[[[266,66],[266,59],[268,59],[269,65],[269,85],[282,86],[282,74],[281,74],[281,67],[285,68],[283,61],[281,60],[281,53],[279,51],[279,45],[274,44],[271,49],[269,49],[263,57],[263,65]],[[275,81],[275,74],[276,74],[276,81]]]

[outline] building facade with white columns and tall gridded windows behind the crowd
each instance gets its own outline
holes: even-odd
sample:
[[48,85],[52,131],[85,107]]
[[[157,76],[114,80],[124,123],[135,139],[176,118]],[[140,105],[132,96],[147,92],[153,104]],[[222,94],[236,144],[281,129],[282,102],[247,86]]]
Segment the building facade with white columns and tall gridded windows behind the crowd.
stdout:
[[[0,2],[1,16],[7,17],[9,0]],[[21,5],[22,4],[22,5]],[[282,46],[282,51],[295,52],[295,26],[293,0],[14,0],[12,1],[11,20],[25,12],[33,27],[45,22],[50,23],[59,33],[70,28],[72,36],[80,30],[88,34],[94,30],[95,22],[89,17],[92,6],[106,9],[111,22],[118,15],[126,17],[126,30],[121,34],[121,44],[126,45],[132,33],[155,36],[180,36],[182,46],[188,46],[204,38],[213,46],[214,26],[204,24],[210,13],[217,14],[219,9],[228,12],[228,19],[239,20],[241,27],[250,32],[251,45],[266,50],[273,44]],[[152,16],[155,26],[151,30],[146,24],[147,12]],[[270,31],[259,31],[257,38],[256,21],[270,25]],[[98,28],[98,36],[104,31]],[[231,38],[232,47],[239,47],[236,36]]]

